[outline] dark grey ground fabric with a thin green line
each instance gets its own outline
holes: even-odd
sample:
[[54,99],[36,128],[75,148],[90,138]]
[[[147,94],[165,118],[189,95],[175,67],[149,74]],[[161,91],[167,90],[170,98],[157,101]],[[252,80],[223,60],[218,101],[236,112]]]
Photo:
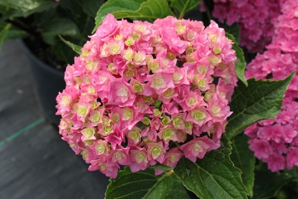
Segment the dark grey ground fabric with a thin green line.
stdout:
[[107,178],[48,123],[33,92],[29,61],[17,41],[0,52],[0,198],[103,199]]

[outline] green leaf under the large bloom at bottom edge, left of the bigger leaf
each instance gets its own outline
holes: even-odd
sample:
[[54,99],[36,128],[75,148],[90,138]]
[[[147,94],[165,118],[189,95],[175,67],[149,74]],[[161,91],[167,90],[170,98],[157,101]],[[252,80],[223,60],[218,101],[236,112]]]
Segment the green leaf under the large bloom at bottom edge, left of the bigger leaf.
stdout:
[[164,199],[172,188],[171,172],[158,176],[153,169],[132,173],[129,167],[110,179],[105,199]]

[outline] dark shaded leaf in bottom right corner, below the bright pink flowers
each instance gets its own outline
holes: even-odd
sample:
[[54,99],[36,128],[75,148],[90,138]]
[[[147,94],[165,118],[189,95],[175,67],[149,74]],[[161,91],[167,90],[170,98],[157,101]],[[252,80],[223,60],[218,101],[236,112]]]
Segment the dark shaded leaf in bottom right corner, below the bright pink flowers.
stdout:
[[292,177],[282,173],[272,173],[269,170],[255,171],[253,199],[270,199],[276,196],[279,190],[292,180]]

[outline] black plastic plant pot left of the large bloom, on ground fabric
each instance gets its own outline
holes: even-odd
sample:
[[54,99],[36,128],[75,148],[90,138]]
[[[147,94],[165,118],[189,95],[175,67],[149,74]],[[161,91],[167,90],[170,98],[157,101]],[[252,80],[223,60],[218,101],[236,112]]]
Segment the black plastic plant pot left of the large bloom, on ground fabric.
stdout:
[[34,92],[44,115],[51,123],[58,125],[61,116],[55,114],[57,112],[56,97],[65,88],[64,73],[42,62],[22,40],[18,42],[30,60]]

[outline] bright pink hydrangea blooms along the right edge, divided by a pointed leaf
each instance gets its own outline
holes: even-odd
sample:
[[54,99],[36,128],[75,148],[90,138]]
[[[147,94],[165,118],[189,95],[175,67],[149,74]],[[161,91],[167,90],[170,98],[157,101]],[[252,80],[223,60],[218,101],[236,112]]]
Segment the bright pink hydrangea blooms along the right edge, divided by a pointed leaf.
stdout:
[[[268,49],[247,66],[246,77],[281,80],[298,71],[298,0],[286,0]],[[291,43],[291,44],[290,44]],[[247,128],[249,148],[272,172],[298,166],[298,74],[293,78],[276,119]]]

